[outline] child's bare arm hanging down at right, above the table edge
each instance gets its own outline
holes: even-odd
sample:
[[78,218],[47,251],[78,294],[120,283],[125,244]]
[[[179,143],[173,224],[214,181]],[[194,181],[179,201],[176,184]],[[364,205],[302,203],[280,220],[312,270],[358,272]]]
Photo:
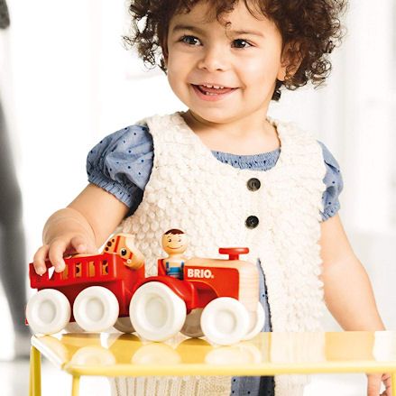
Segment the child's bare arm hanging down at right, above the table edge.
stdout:
[[367,273],[338,215],[321,226],[322,281],[327,308],[344,330],[383,330]]

